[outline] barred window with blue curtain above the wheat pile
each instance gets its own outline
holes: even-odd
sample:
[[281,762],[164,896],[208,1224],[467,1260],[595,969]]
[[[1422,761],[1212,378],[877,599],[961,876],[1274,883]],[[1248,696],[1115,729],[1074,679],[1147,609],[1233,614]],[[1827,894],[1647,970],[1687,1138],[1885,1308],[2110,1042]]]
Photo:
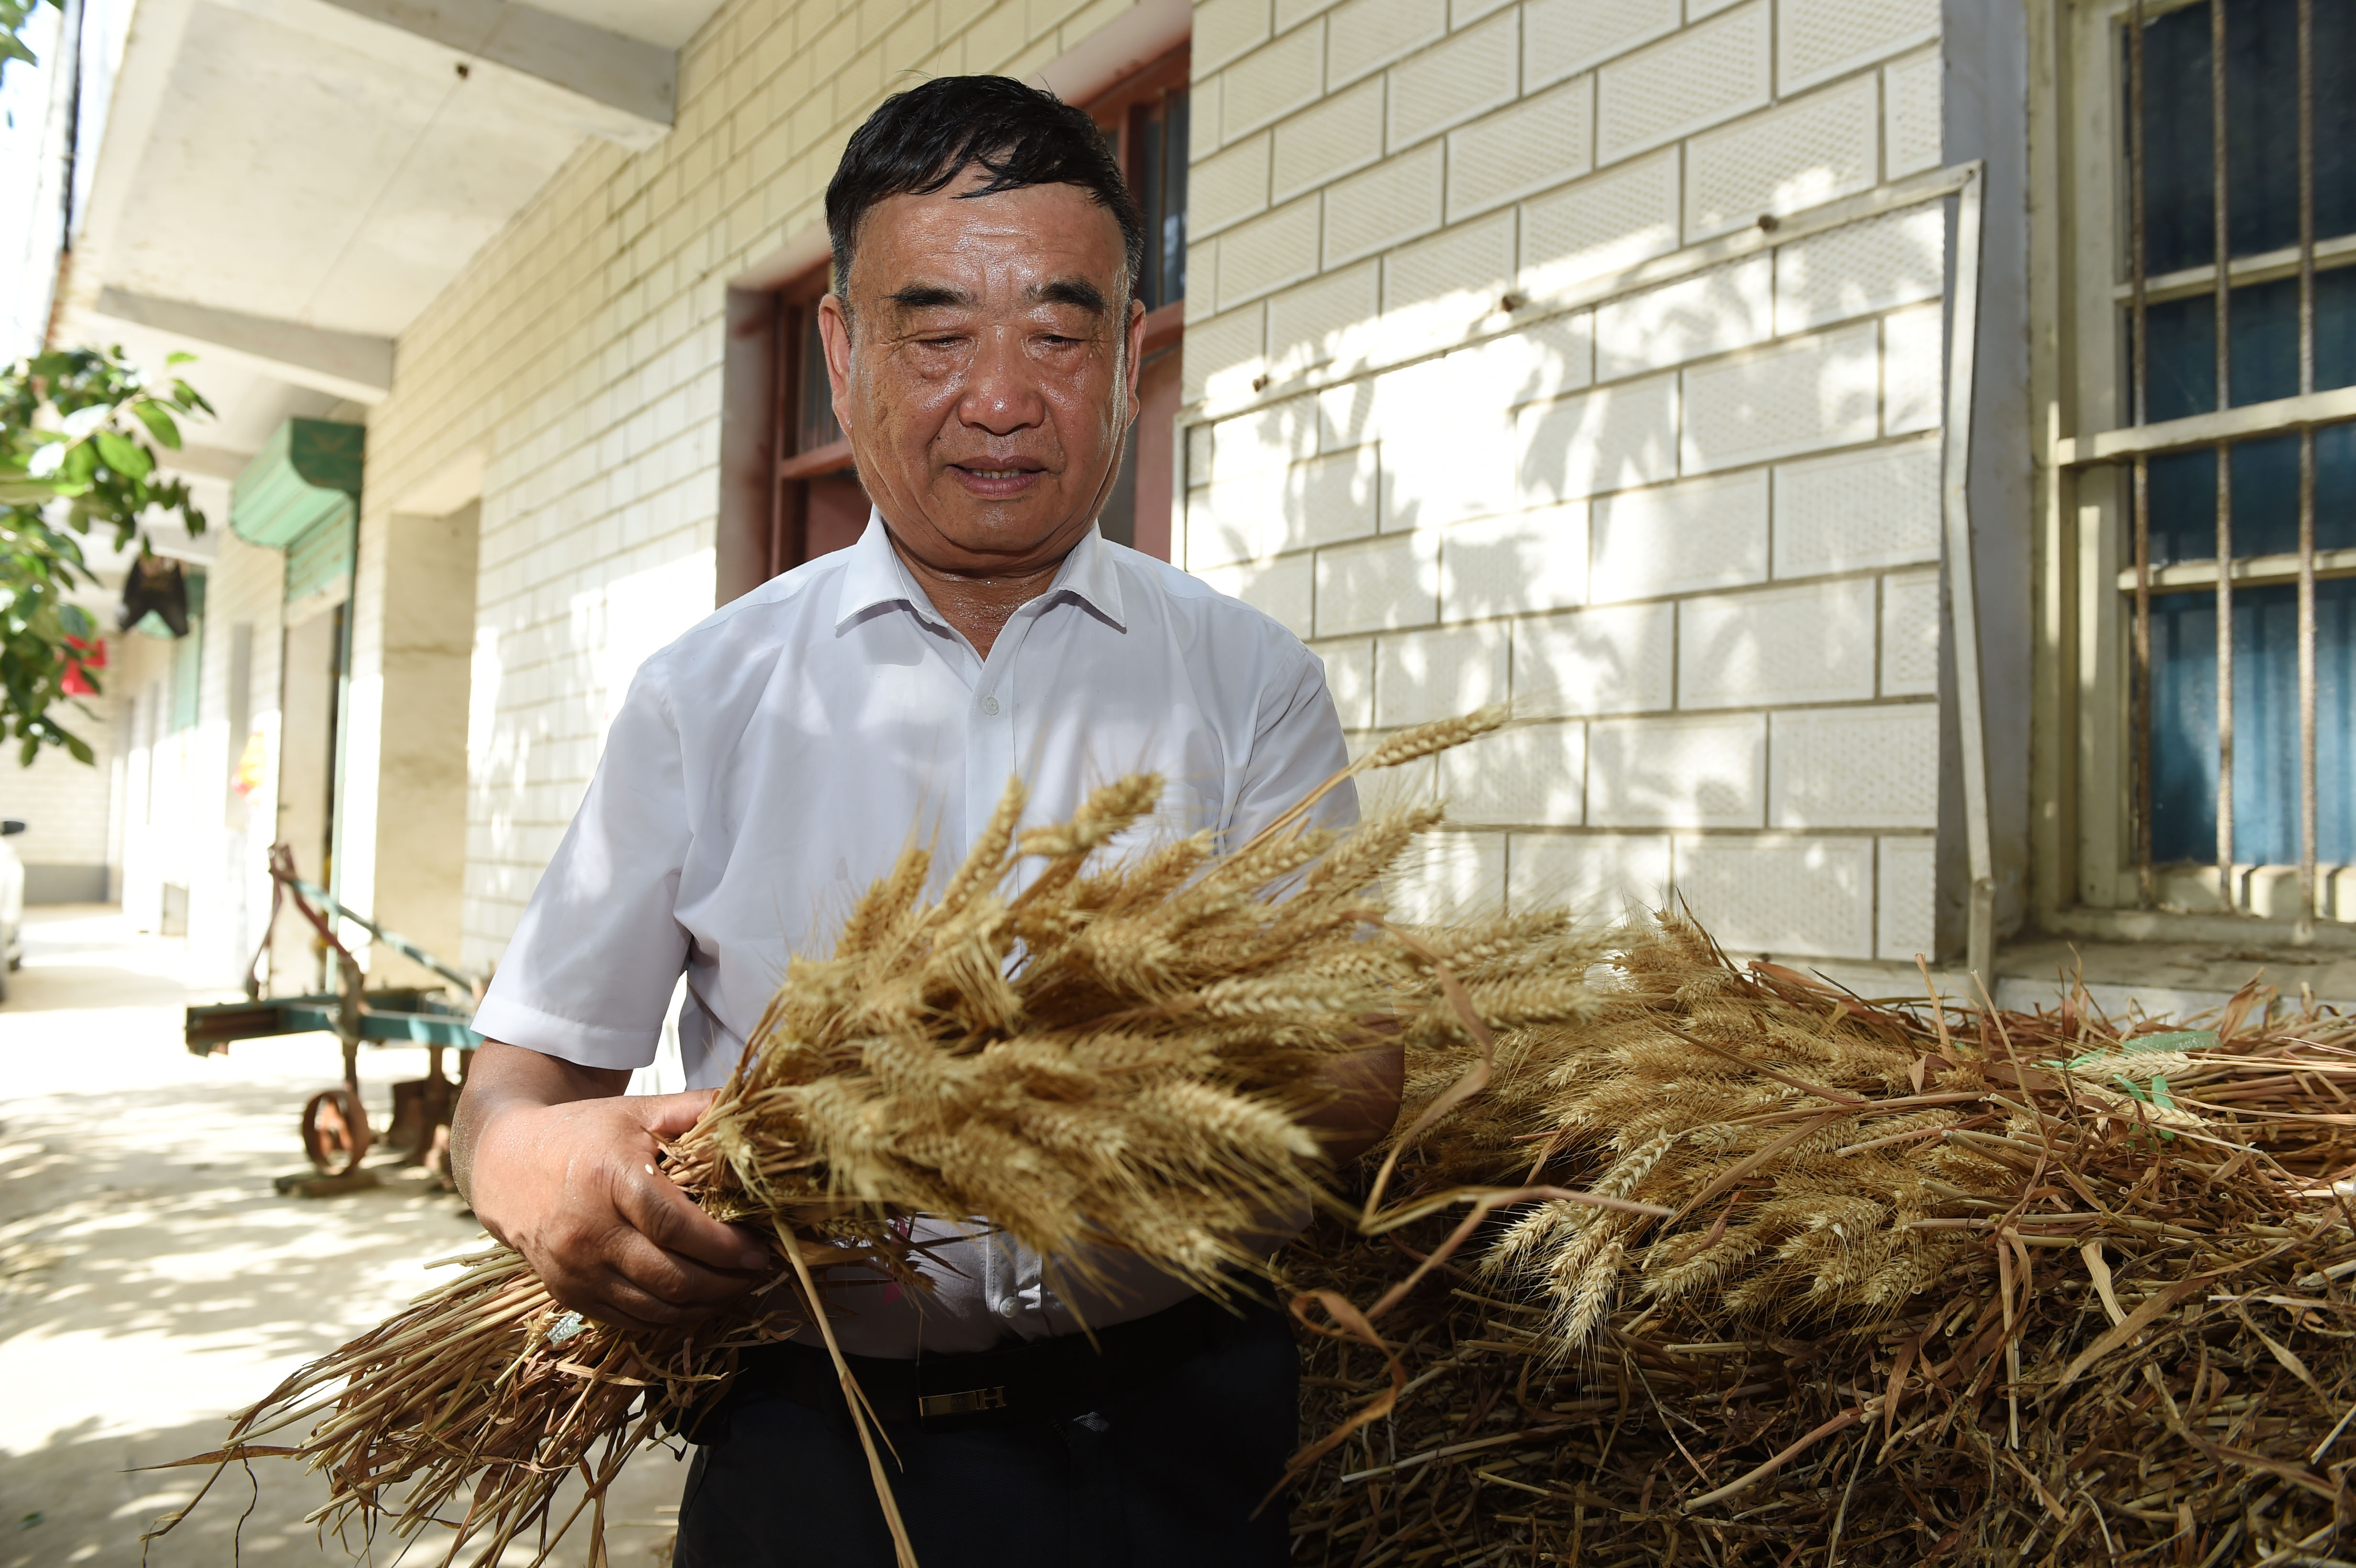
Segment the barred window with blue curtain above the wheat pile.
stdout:
[[2349,921],[2356,0],[2111,0],[2076,49],[2080,897]]

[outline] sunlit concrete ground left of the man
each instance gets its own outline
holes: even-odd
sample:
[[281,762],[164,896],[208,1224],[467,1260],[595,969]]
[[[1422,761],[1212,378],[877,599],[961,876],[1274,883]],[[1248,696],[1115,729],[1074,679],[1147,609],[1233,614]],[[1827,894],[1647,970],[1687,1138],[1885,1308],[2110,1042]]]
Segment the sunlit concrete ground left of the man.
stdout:
[[[0,1568],[130,1566],[139,1533],[203,1469],[141,1471],[221,1443],[224,1417],[403,1307],[481,1231],[455,1196],[386,1170],[337,1198],[280,1198],[304,1170],[302,1102],[337,1074],[332,1036],[243,1041],[198,1059],[181,944],[111,909],[31,909],[0,1003]],[[370,1123],[422,1050],[360,1059]],[[285,1460],[231,1469],[153,1568],[438,1563],[438,1530],[346,1549],[304,1514],[325,1486]],[[650,1568],[683,1464],[641,1453],[608,1507],[615,1568]],[[243,1523],[240,1523],[243,1521]],[[438,1537],[438,1540],[436,1540]],[[511,1552],[507,1563],[528,1563]],[[584,1533],[554,1563],[589,1561]]]

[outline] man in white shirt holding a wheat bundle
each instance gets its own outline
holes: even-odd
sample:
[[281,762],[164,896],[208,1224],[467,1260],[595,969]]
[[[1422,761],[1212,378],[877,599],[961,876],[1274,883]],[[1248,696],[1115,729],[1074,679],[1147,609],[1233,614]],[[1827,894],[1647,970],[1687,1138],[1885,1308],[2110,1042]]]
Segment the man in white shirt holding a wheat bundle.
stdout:
[[[622,1326],[707,1316],[773,1274],[653,1172],[655,1140],[693,1123],[787,956],[827,951],[909,833],[945,873],[1008,775],[1037,824],[1152,770],[1159,831],[1242,843],[1345,760],[1298,640],[1096,532],[1145,332],[1145,235],[1096,125],[1008,78],[928,82],[851,139],[827,226],[827,372],[874,518],[638,671],[476,1015],[457,1111],[483,1224]],[[624,1099],[681,970],[697,1092]],[[1336,1078],[1338,1158],[1388,1128],[1397,1085],[1397,1050]],[[855,1269],[825,1295],[928,1568],[1284,1561],[1282,1509],[1253,1519],[1296,1436],[1272,1309],[1225,1311],[1138,1260],[1091,1260],[1112,1290],[1067,1288],[985,1222],[914,1234],[940,1243],[928,1295]],[[695,1429],[681,1568],[893,1561],[820,1356],[756,1356]]]

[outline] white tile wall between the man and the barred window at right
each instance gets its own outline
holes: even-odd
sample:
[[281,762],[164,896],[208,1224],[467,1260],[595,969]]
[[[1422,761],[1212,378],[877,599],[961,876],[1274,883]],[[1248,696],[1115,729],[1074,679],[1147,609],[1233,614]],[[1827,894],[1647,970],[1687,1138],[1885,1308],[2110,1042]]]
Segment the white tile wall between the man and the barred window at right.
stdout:
[[1310,617],[1355,744],[1513,697],[1524,723],[1399,782],[1463,829],[1416,909],[1675,873],[1746,951],[1927,942],[1939,207],[1451,344],[1937,167],[1934,40],[1934,0],[1220,19],[1190,396],[1317,391],[1190,445],[1187,563]]

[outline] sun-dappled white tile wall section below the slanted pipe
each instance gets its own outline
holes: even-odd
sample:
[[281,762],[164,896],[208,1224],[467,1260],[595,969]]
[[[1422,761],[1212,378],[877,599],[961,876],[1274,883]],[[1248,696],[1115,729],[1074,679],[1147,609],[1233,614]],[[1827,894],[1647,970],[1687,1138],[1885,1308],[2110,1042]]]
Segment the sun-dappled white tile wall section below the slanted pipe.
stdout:
[[[1767,833],[1932,826],[1934,737],[1904,822],[1798,777],[1779,812],[1769,753],[1786,706],[1932,690],[1937,579],[1887,584],[1925,659],[1882,652],[1859,572],[1939,560],[1944,228],[1939,202],[1864,219],[1194,428],[1185,565],[1315,638],[1357,744],[1501,699],[1527,725],[1392,786],[1470,829],[1404,878],[1414,911],[1677,888],[1743,951],[1904,944],[1875,935],[1875,838]],[[1383,315],[1319,351],[1348,374],[1409,337]]]

